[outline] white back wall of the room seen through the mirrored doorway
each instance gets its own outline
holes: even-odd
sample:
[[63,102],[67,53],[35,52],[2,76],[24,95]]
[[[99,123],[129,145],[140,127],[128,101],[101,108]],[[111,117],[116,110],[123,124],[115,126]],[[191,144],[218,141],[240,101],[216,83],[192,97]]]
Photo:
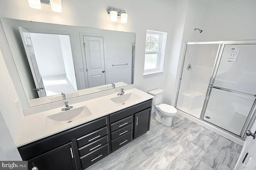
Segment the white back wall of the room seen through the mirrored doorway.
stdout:
[[31,33],[31,41],[42,77],[66,74],[59,35]]

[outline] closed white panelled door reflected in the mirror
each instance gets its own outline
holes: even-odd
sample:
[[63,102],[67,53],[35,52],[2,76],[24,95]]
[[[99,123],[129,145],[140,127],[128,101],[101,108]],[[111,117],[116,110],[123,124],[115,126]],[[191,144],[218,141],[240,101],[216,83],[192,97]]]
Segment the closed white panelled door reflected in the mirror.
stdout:
[[103,37],[83,36],[89,87],[105,85]]

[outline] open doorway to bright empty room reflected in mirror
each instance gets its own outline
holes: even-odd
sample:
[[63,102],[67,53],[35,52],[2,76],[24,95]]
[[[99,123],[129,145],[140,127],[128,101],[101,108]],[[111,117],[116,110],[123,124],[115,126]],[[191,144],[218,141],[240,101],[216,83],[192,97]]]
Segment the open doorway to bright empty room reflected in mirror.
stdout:
[[69,36],[30,33],[29,42],[33,47],[30,50],[33,52],[30,53],[34,54],[30,55],[30,57],[34,56],[34,59],[31,58],[32,71],[36,73],[34,81],[36,84],[39,80],[37,77],[40,75],[44,85],[44,89],[40,91],[46,93],[46,95],[38,94],[39,97],[77,90]]

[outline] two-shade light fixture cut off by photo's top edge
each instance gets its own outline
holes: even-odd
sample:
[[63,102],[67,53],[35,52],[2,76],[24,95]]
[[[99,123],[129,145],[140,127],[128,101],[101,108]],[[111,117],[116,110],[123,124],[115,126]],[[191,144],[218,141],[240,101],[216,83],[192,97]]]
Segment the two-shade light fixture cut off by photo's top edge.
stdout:
[[28,4],[35,9],[41,9],[41,4],[47,4],[54,12],[62,12],[61,0],[28,0]]

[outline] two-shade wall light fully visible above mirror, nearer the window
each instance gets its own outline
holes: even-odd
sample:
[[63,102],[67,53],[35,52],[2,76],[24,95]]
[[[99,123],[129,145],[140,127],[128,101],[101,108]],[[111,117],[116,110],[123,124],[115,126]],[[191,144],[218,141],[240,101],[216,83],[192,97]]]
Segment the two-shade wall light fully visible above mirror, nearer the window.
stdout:
[[121,23],[127,23],[128,14],[126,14],[124,10],[118,10],[114,7],[110,7],[107,9],[107,12],[112,22],[117,22],[117,18],[121,18]]

